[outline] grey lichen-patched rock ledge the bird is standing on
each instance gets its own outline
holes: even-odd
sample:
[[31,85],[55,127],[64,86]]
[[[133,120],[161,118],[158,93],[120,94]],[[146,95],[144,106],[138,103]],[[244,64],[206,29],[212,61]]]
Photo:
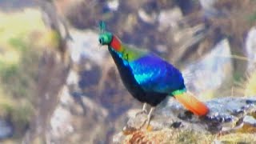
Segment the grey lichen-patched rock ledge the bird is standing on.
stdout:
[[[193,131],[202,134],[226,134],[230,132],[242,131],[251,132],[256,128],[256,98],[215,98],[206,102],[210,108],[209,114],[198,118],[194,114],[185,110],[178,102],[170,101],[158,106],[150,126],[139,129],[143,121],[146,121],[146,114],[138,114],[130,118],[126,129],[122,133],[114,135],[115,143],[122,143],[126,138],[134,138],[134,134],[161,132],[163,130],[182,130]],[[246,126],[246,128],[245,128]],[[144,135],[145,136],[145,135]],[[163,134],[158,135],[162,137]],[[164,135],[164,137],[167,137]],[[169,134],[170,136],[170,134]],[[163,138],[164,140],[166,138]],[[162,141],[161,141],[162,142]]]

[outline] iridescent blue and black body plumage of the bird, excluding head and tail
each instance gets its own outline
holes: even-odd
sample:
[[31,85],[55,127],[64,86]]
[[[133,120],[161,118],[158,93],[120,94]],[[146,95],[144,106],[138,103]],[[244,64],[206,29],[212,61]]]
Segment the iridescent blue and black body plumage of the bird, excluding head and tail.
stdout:
[[[122,82],[130,94],[140,102],[157,106],[174,90],[185,89],[179,70],[157,55],[144,53],[138,49],[132,49],[132,52],[117,52],[111,46],[109,51],[118,67]],[[143,54],[130,60],[137,52]]]

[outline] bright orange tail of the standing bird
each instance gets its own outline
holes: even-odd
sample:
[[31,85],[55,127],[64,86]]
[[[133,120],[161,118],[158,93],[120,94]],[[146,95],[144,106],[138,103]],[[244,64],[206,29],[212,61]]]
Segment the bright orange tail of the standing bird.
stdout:
[[181,102],[187,110],[190,110],[198,116],[206,115],[209,111],[208,107],[195,98],[191,93],[186,92],[183,94],[176,94],[174,97],[178,100],[178,102]]

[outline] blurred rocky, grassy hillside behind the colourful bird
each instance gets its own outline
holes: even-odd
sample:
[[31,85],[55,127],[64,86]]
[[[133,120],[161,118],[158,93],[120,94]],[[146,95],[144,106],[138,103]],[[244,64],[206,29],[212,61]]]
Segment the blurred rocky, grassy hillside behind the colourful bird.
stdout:
[[98,22],[182,70],[198,98],[256,95],[254,0],[1,0],[0,142],[111,143],[128,94]]

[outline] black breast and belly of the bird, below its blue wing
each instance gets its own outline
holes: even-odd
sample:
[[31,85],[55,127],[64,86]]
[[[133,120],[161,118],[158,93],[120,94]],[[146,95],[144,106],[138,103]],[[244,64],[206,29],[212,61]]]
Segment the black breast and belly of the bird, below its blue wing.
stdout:
[[145,91],[139,86],[138,82],[136,82],[133,73],[130,70],[129,66],[126,66],[122,61],[122,58],[118,57],[113,50],[110,50],[110,54],[114,59],[115,64],[118,67],[119,74],[122,78],[123,84],[126,86],[126,89],[130,92],[130,94],[138,99],[140,102],[146,102],[150,104],[150,106],[157,106],[160,102],[162,102],[168,94],[156,93],[154,91]]

